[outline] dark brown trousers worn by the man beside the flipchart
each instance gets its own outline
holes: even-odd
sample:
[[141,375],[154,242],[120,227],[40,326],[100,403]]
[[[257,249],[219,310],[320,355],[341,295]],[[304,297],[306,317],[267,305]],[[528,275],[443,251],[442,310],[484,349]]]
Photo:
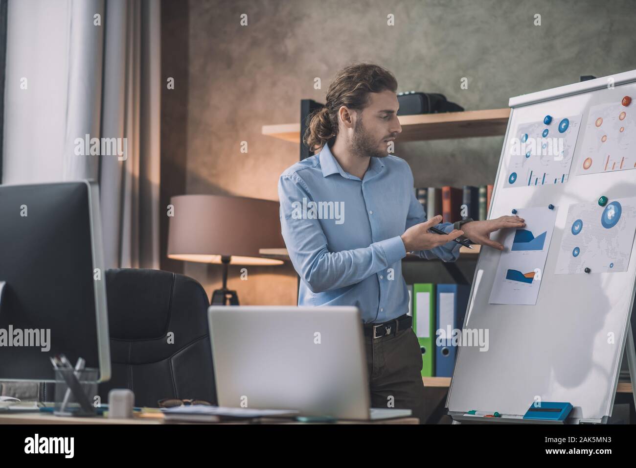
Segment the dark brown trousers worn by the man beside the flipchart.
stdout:
[[397,334],[364,337],[371,408],[408,408],[425,423],[422,351],[411,327]]

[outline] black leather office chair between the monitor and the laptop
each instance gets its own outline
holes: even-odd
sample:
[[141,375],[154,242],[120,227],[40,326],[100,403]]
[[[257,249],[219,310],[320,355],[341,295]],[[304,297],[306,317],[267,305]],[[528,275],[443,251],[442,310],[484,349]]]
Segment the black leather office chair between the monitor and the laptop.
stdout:
[[[106,295],[112,375],[99,385],[103,403],[111,389],[130,388],[135,406],[156,407],[165,398],[217,404],[209,302],[197,281],[160,270],[109,269]],[[51,390],[45,386],[45,401],[52,401]]]

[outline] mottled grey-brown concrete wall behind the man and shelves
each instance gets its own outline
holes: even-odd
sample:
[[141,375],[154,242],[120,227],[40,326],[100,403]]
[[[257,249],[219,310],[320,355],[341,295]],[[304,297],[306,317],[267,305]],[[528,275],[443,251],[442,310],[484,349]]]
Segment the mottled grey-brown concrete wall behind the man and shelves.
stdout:
[[[298,160],[298,146],[261,135],[261,125],[298,122],[300,99],[324,102],[331,76],[353,61],[382,64],[396,74],[399,90],[442,92],[466,110],[506,107],[511,96],[577,82],[582,74],[636,68],[634,1],[190,0],[189,10],[181,3],[188,50],[174,53],[188,60],[188,101],[172,106],[187,105],[187,148],[164,148],[162,141],[162,150],[185,150],[188,194],[277,199],[278,176]],[[247,26],[240,25],[242,13]],[[390,13],[394,26],[387,25]],[[164,33],[164,50],[171,41]],[[165,67],[163,73],[170,76]],[[315,77],[322,89],[314,89]],[[502,141],[404,143],[396,154],[411,164],[418,187],[480,185],[494,182]],[[460,267],[472,278],[470,262]],[[209,292],[220,271],[185,266]],[[248,281],[239,280],[237,268],[230,278],[242,303],[295,303],[289,266],[249,271]],[[405,276],[450,281],[435,262],[409,264]]]

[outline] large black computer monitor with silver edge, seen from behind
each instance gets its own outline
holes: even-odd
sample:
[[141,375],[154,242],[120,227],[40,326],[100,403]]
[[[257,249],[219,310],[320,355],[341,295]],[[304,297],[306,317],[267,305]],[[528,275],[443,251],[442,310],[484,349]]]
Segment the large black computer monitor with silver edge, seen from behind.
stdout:
[[105,281],[95,183],[0,185],[0,380],[55,381],[59,353],[109,379]]

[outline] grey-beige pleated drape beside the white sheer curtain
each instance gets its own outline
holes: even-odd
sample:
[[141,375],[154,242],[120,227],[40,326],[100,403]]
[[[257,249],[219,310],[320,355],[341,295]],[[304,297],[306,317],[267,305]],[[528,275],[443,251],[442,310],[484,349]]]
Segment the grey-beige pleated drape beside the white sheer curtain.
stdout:
[[160,7],[106,3],[101,134],[127,141],[100,161],[106,267],[159,268]]

